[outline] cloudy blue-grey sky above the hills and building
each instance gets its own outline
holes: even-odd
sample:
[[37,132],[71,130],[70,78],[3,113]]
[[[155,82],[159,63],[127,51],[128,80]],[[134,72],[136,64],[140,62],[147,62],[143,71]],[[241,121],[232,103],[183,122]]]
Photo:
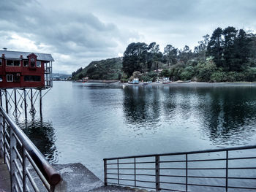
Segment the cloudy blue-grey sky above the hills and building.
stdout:
[[0,12],[0,49],[50,53],[64,74],[131,42],[193,49],[217,27],[256,31],[255,0],[0,0]]

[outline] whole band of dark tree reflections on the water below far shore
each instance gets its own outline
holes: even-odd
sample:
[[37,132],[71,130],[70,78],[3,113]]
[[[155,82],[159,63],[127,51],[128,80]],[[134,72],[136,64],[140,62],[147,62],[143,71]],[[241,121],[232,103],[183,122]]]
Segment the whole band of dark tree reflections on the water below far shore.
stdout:
[[246,145],[255,134],[256,88],[124,89],[126,123],[139,128],[194,128],[214,145]]

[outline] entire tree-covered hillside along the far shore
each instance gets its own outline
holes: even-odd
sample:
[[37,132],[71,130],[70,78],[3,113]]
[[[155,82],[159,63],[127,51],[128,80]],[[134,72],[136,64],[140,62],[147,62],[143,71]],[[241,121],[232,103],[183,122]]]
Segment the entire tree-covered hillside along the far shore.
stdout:
[[[217,28],[211,37],[203,40],[191,50],[182,50],[166,45],[164,52],[152,42],[132,42],[124,51],[124,57],[91,62],[85,69],[72,74],[73,79],[121,80],[133,77],[140,80],[156,80],[170,77],[171,80],[196,80],[204,82],[234,82],[256,80],[256,35],[243,29],[229,26]],[[102,64],[95,67],[95,64]],[[135,74],[136,72],[136,74]]]

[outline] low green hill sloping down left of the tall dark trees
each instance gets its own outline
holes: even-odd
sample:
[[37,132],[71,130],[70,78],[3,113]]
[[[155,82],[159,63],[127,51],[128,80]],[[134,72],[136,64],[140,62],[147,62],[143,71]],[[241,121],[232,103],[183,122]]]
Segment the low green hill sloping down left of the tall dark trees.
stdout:
[[101,61],[92,61],[85,68],[72,72],[73,80],[89,77],[93,80],[118,80],[121,77],[122,58],[108,58]]

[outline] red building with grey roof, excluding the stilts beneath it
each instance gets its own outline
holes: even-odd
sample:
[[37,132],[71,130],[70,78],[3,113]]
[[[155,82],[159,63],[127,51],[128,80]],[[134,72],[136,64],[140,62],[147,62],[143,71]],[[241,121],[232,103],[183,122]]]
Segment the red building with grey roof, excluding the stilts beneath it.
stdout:
[[0,50],[0,88],[52,87],[53,61],[50,54]]

